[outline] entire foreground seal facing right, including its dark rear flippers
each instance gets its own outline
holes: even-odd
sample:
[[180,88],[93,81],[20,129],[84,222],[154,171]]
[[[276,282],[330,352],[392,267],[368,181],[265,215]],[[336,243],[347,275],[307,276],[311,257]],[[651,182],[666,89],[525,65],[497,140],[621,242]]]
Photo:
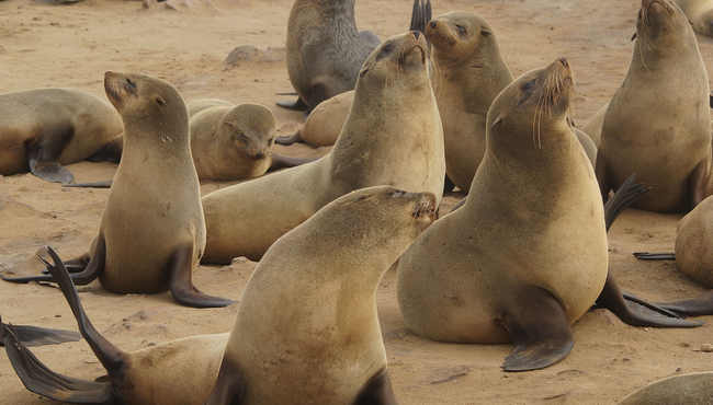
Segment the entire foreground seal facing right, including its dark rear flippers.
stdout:
[[[13,340],[8,355],[29,390],[69,403],[201,405],[216,383],[211,404],[237,386],[245,387],[240,404],[269,395],[286,398],[262,403],[361,404],[353,400],[374,395],[391,400],[380,403],[395,404],[375,292],[388,266],[435,219],[434,209],[432,194],[386,186],[342,196],[265,254],[246,286],[230,334],[190,337],[132,354],[97,333],[52,252],[56,267],[47,267],[109,381],[56,374]],[[310,241],[320,241],[320,248]],[[370,254],[362,255],[364,251]],[[294,288],[305,285],[308,290]],[[252,346],[256,339],[260,343]],[[264,367],[270,367],[268,378],[280,381],[280,390],[261,380]]]

